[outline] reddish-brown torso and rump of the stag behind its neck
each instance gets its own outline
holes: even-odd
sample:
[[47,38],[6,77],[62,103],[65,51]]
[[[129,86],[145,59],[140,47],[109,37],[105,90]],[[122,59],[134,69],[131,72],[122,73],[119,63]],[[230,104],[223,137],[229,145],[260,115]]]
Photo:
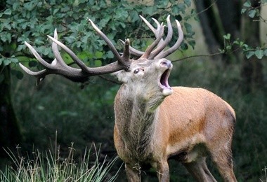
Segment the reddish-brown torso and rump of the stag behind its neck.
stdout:
[[173,90],[159,106],[159,123],[169,129],[164,134],[169,136],[165,139],[168,158],[193,162],[208,155],[214,147],[224,148],[226,141],[231,141],[235,126],[231,106],[202,88],[173,87]]

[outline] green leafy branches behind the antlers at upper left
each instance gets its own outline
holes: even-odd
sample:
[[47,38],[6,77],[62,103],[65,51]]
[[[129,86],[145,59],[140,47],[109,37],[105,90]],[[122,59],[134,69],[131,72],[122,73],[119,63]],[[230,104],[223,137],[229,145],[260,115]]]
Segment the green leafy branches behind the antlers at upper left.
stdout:
[[[162,0],[157,1],[155,5],[145,5],[137,1],[131,3],[126,0],[8,0],[6,8],[0,13],[0,65],[18,63],[20,59],[20,62],[27,62],[29,66],[36,66],[32,64],[32,59],[21,58],[33,57],[26,49],[25,41],[36,46],[41,56],[51,62],[53,55],[51,45],[46,43],[46,35],[53,34],[54,29],[58,30],[60,41],[69,45],[74,52],[78,52],[78,57],[90,66],[110,62],[113,58],[112,52],[93,31],[87,18],[96,22],[113,43],[117,43],[119,39],[130,38],[136,48],[144,48],[147,38],[153,36],[151,31],[146,31],[146,28],[140,26],[141,19],[138,15],[143,15],[148,20],[155,17],[165,22],[165,18],[170,14],[172,20],[183,20],[187,34],[182,48],[187,49],[188,45],[195,45],[193,29],[186,23],[195,16],[194,10],[190,11],[190,15],[185,15],[185,10],[190,6],[189,0],[181,3]],[[65,52],[62,52],[62,55],[65,62],[72,62]]]

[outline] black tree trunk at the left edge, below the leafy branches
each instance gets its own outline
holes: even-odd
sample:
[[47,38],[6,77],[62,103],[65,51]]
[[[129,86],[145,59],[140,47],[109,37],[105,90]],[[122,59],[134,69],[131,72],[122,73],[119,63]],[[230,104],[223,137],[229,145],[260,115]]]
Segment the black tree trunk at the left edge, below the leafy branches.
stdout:
[[22,135],[11,102],[10,66],[0,66],[0,156],[6,153],[3,148],[14,148]]

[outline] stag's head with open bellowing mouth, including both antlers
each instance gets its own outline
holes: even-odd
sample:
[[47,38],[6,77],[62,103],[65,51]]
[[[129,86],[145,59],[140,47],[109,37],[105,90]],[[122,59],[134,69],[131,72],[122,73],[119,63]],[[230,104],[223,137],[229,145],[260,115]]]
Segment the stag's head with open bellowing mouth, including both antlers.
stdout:
[[[152,30],[152,32],[155,34],[155,41],[148,46],[148,48],[145,50],[145,52],[136,50],[130,46],[129,39],[126,39],[126,41],[122,41],[124,43],[124,51],[122,55],[119,54],[119,52],[116,50],[115,46],[112,44],[112,42],[109,40],[105,34],[103,34],[100,29],[89,19],[89,22],[93,26],[93,28],[97,31],[97,33],[103,38],[103,40],[107,43],[108,47],[112,51],[113,55],[117,59],[116,62],[112,62],[111,64],[100,66],[100,67],[88,67],[82,60],[80,60],[77,55],[70,50],[70,48],[67,48],[66,45],[58,41],[58,34],[57,31],[54,31],[54,36],[48,36],[53,43],[52,43],[52,51],[55,55],[55,59],[51,64],[46,62],[44,59],[41,58],[39,53],[32,48],[32,45],[25,42],[25,45],[27,45],[28,48],[30,48],[30,51],[36,57],[36,59],[45,66],[46,69],[43,69],[41,71],[31,71],[30,69],[27,69],[27,67],[23,66],[20,63],[21,68],[28,74],[37,77],[37,83],[39,83],[41,80],[45,78],[48,74],[60,74],[62,76],[65,76],[66,78],[84,83],[90,76],[96,76],[106,73],[115,73],[115,75],[121,80],[123,83],[134,83],[134,80],[138,81],[138,84],[140,83],[142,86],[145,87],[145,78],[148,78],[148,75],[151,76],[153,80],[157,80],[157,85],[159,86],[159,89],[162,90],[162,94],[167,96],[168,94],[171,94],[171,88],[169,87],[167,78],[169,76],[169,72],[171,71],[171,62],[167,61],[167,59],[163,59],[164,57],[167,57],[172,52],[178,49],[179,45],[183,41],[183,31],[181,30],[180,23],[176,20],[176,25],[178,28],[178,40],[176,43],[169,48],[168,50],[164,50],[164,48],[167,47],[168,43],[171,41],[171,37],[173,34],[173,30],[171,27],[170,18],[168,16],[167,18],[167,27],[168,27],[168,34],[166,38],[162,38],[164,34],[164,25],[159,24],[159,22],[155,19],[152,19],[157,24],[157,29],[152,27],[150,23],[145,20],[142,16],[140,16],[142,20],[145,22],[146,25]],[[60,56],[60,52],[58,50],[58,46],[63,48],[67,54],[72,57],[75,64],[79,66],[79,69],[74,68],[72,66],[68,66],[65,64],[63,58]],[[131,55],[134,57],[137,57],[136,59],[131,59]],[[119,71],[120,70],[120,71]],[[143,80],[143,81],[142,81]],[[137,83],[136,83],[137,84]],[[136,85],[135,84],[135,85]],[[148,86],[148,85],[146,85]]]

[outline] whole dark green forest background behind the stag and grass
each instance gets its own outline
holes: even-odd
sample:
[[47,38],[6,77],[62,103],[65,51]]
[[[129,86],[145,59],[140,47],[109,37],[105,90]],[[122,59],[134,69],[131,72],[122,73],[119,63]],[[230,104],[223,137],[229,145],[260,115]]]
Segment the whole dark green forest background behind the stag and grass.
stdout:
[[[138,15],[147,20],[179,20],[185,32],[180,50],[171,55],[170,85],[204,87],[236,111],[233,139],[238,181],[264,180],[267,165],[267,14],[266,1],[12,1],[0,6],[0,167],[12,165],[4,148],[29,155],[55,143],[75,156],[96,144],[100,156],[116,155],[112,132],[113,101],[119,84],[112,76],[91,77],[88,85],[47,76],[38,86],[18,66],[41,69],[24,45],[27,41],[48,62],[53,60],[46,35],[59,39],[89,66],[114,61],[91,18],[122,49],[119,39],[145,49],[154,38]],[[175,38],[174,38],[175,39]],[[175,40],[174,40],[175,41]],[[72,60],[65,53],[67,63]],[[81,87],[84,87],[81,89]],[[15,152],[16,153],[16,152]],[[119,169],[122,161],[112,170]],[[211,170],[219,179],[216,169]],[[172,181],[192,181],[182,165],[170,162]],[[153,172],[145,178],[155,179]],[[124,179],[121,169],[119,179]]]

